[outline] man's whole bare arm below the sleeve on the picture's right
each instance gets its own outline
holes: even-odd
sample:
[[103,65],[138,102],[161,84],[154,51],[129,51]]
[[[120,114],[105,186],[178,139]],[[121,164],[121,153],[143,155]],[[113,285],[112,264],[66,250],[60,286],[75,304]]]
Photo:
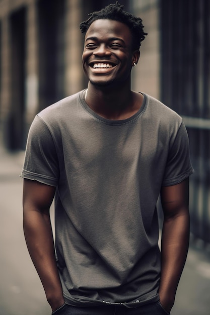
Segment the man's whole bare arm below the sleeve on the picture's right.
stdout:
[[163,187],[160,302],[170,312],[189,247],[189,179]]

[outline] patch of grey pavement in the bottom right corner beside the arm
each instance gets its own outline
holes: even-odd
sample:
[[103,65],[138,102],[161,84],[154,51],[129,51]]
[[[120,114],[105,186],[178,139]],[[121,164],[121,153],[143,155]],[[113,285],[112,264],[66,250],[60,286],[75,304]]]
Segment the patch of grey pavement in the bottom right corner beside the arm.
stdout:
[[209,315],[210,251],[190,241],[187,261],[171,315]]

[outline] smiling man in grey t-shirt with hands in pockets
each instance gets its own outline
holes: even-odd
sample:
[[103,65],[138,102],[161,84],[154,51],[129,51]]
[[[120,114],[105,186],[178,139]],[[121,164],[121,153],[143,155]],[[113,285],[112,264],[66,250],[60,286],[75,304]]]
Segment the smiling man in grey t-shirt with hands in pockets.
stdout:
[[88,89],[43,110],[29,132],[27,246],[53,314],[169,314],[189,241],[186,129],[171,109],[130,90],[146,35],[140,18],[116,3],[81,30]]

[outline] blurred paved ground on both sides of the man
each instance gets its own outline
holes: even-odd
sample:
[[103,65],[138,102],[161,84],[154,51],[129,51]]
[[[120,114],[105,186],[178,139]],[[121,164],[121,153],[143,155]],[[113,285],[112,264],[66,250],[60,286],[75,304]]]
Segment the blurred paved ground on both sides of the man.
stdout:
[[[0,315],[49,315],[22,228],[23,152],[0,149]],[[172,315],[209,315],[210,250],[190,246]]]

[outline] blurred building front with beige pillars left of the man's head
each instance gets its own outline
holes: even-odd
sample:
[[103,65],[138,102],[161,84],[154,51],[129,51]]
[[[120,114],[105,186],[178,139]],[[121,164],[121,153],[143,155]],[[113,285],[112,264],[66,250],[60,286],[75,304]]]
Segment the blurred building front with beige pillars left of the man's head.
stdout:
[[[60,5],[61,0],[59,3],[56,1],[54,1],[53,16],[52,0],[0,1],[0,145],[12,150],[25,147],[28,128],[34,115],[41,108],[55,102],[57,98],[76,93],[83,87],[81,67],[83,38],[79,30],[79,24],[82,21],[82,1],[63,0],[62,16],[60,16],[60,11],[56,12],[56,6]],[[17,47],[14,40],[16,36],[13,37],[13,16],[23,9],[25,12],[24,34],[19,34],[18,26],[15,31],[17,35],[24,36],[24,47],[22,47],[24,56],[22,54],[22,57],[16,57],[17,60],[14,61],[14,48],[16,50]],[[43,14],[40,12],[42,9],[46,10]],[[51,14],[51,20],[46,19],[45,22],[44,19],[48,18],[48,13]],[[51,23],[50,26],[47,25],[49,23]],[[45,26],[47,31],[43,30]],[[50,32],[51,26],[52,32]],[[46,32],[45,37],[42,36],[43,31]],[[43,40],[46,41],[49,37],[56,51],[50,51],[50,49],[46,51],[48,47]],[[51,58],[51,67],[49,58]],[[23,77],[18,73],[20,69],[15,70],[14,64],[18,63],[23,68]],[[46,63],[48,63],[47,66]],[[54,79],[48,73],[52,67]],[[14,77],[19,77],[23,81],[21,82],[23,91],[20,92]],[[21,103],[18,105],[20,108],[17,106],[18,102]],[[21,108],[24,109],[23,112]],[[20,119],[17,119],[17,113]],[[20,134],[22,140],[16,140],[17,134]]]

